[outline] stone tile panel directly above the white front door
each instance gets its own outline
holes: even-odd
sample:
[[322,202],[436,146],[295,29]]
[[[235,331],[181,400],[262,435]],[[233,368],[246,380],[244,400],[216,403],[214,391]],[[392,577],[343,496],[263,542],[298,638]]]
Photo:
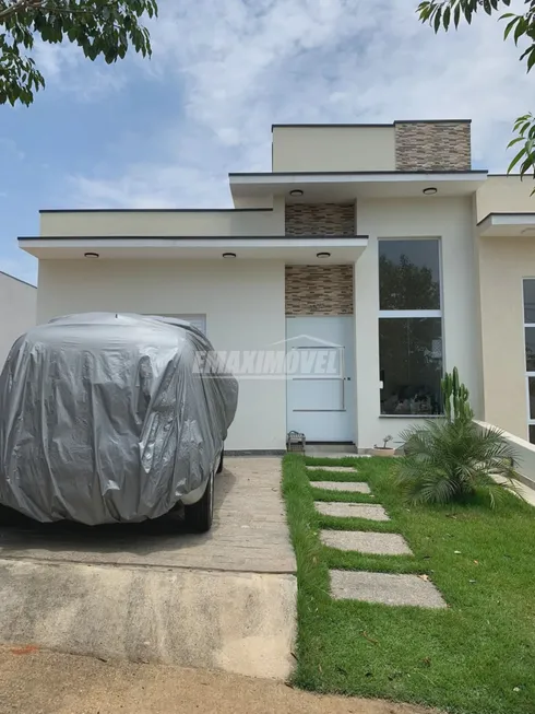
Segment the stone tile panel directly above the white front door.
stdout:
[[286,315],[353,315],[353,266],[286,266]]

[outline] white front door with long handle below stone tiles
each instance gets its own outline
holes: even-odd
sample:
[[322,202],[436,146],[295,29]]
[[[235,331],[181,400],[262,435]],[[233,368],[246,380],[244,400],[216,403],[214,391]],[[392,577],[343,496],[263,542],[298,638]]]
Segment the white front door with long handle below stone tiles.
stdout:
[[355,441],[354,317],[288,317],[287,430],[308,442]]

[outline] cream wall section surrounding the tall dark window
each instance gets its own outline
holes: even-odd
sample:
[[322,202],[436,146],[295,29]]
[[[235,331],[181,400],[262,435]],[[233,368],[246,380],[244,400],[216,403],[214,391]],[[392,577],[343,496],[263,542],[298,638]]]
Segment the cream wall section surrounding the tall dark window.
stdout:
[[418,419],[380,415],[378,238],[441,239],[445,368],[459,368],[476,417],[483,414],[480,324],[469,198],[359,200],[358,232],[369,245],[356,264],[357,441],[368,448],[394,440]]

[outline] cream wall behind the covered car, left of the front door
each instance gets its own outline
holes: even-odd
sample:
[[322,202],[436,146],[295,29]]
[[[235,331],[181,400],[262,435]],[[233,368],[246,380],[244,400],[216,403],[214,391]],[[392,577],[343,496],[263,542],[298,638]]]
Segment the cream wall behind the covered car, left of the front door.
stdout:
[[[285,339],[284,262],[41,260],[38,319],[118,311],[205,314],[216,350],[262,350]],[[273,349],[273,348],[271,348]],[[283,449],[284,381],[241,381],[228,449]]]

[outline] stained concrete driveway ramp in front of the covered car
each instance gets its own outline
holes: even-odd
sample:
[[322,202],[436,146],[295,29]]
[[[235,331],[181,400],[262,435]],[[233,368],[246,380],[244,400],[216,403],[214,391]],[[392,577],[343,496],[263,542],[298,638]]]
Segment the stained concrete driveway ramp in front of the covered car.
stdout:
[[289,574],[0,560],[0,641],[286,679]]

